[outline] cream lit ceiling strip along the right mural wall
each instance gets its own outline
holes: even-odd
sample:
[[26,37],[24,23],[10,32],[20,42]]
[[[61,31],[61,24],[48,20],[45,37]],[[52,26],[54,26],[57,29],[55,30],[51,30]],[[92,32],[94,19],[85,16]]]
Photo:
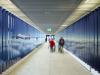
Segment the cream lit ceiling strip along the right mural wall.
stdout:
[[[75,9],[75,11],[65,20],[63,28],[69,26],[79,20],[81,17],[85,16],[96,7],[100,6],[100,0],[83,0],[80,5]],[[59,28],[57,32],[61,31],[62,28]]]

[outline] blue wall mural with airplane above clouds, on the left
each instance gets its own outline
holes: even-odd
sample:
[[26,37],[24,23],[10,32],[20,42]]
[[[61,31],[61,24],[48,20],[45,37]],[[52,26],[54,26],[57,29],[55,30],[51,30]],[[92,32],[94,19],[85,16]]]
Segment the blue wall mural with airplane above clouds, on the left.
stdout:
[[0,73],[44,41],[44,33],[0,7]]

